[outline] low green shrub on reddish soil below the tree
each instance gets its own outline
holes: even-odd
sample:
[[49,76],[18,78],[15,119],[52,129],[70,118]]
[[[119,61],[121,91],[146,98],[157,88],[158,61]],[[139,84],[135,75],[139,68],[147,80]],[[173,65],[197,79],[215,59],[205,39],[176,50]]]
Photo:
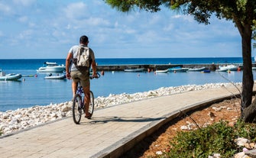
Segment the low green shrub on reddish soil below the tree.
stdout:
[[255,124],[238,121],[234,127],[228,122],[220,121],[195,131],[180,131],[170,141],[170,151],[160,157],[208,157],[219,153],[222,158],[232,157],[241,152],[235,143],[238,137],[255,140]]

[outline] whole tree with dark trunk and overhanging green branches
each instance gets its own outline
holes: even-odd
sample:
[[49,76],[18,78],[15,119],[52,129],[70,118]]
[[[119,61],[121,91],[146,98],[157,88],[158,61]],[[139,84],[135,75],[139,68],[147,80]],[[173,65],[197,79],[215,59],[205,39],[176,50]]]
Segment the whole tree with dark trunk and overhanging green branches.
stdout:
[[250,109],[254,85],[251,71],[251,38],[256,27],[255,0],[103,0],[118,11],[131,11],[139,8],[145,11],[160,11],[164,5],[173,10],[192,15],[199,23],[209,24],[209,18],[233,21],[241,35],[243,78],[241,89],[241,118],[245,122],[256,122],[256,108]]

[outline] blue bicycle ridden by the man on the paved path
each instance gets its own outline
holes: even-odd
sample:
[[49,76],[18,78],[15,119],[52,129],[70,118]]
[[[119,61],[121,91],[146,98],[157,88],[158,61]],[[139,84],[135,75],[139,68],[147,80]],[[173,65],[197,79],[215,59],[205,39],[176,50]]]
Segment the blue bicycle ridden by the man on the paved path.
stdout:
[[[99,78],[100,75],[97,73],[97,77],[90,76],[90,79],[93,78]],[[93,111],[94,111],[94,95],[93,92],[89,92],[90,95],[90,102],[89,102],[89,114],[92,117]],[[84,108],[84,97],[85,94],[83,92],[83,87],[78,83],[77,89],[76,89],[76,95],[73,98],[73,105],[72,105],[72,112],[73,112],[73,121],[75,124],[79,124],[81,121],[82,115],[85,113]]]

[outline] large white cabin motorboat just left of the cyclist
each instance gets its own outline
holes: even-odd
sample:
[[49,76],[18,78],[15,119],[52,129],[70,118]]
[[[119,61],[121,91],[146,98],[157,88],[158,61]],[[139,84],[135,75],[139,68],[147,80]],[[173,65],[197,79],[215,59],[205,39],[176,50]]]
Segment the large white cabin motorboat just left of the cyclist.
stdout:
[[39,73],[63,73],[65,71],[66,66],[58,65],[57,63],[50,63],[50,62],[45,62],[44,66],[40,67],[37,69],[37,72]]

